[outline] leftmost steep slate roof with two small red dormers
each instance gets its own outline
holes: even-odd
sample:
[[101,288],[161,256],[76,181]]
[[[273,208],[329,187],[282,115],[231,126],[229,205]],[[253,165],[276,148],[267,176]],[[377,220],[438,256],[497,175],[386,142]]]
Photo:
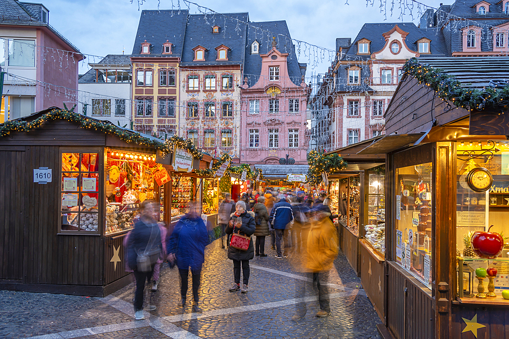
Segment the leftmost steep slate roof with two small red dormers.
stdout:
[[[186,32],[187,10],[143,10],[132,48],[133,57],[182,57]],[[140,54],[142,42],[151,44],[151,54]],[[162,54],[162,44],[168,40],[173,54]]]

